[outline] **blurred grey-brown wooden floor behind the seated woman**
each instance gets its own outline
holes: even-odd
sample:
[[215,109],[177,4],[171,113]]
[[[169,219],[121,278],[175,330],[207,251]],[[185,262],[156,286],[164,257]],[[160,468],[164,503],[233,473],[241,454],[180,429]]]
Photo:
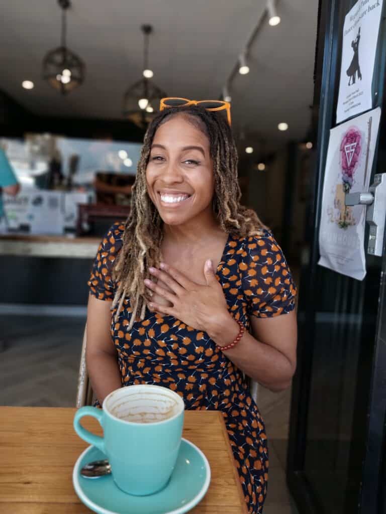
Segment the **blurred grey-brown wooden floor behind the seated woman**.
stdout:
[[[83,317],[0,316],[0,405],[74,407]],[[264,514],[296,514],[285,482],[290,391],[259,388],[270,442]]]

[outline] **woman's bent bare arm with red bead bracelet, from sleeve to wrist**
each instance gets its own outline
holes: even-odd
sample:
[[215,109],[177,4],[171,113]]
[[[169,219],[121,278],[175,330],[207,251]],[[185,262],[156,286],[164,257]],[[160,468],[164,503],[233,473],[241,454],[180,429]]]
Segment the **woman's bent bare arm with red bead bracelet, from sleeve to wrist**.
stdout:
[[[271,391],[282,391],[290,386],[296,369],[297,324],[295,309],[272,318],[251,316],[252,334],[247,331],[238,344],[225,355],[236,366]],[[239,324],[226,313],[215,320],[208,335],[219,346],[232,342],[239,332]]]

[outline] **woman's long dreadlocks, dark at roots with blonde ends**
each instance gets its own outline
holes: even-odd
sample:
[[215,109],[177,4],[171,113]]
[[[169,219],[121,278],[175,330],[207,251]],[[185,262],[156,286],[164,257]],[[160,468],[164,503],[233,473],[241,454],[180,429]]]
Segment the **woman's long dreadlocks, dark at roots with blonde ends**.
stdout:
[[241,191],[237,180],[237,150],[231,129],[219,114],[191,105],[170,107],[160,112],[150,123],[145,134],[137,175],[132,188],[131,211],[122,236],[122,248],[113,268],[113,279],[118,288],[112,307],[117,306],[115,321],[126,297],[130,297],[132,315],[128,329],[133,326],[137,313],[139,320],[145,317],[146,296],[144,279],[151,278],[150,266],[159,267],[163,221],[152,203],[146,185],[146,168],[151,145],[157,128],[172,116],[184,115],[209,139],[210,155],[214,163],[215,192],[213,212],[225,233],[241,236],[259,233],[266,228],[255,211],[240,205]]

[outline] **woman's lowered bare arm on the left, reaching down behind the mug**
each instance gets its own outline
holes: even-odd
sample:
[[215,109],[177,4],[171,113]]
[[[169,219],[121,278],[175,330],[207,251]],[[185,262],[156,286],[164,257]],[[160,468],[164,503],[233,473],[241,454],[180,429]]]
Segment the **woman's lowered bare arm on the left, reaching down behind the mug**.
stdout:
[[104,398],[122,385],[117,352],[111,338],[111,301],[89,295],[87,306],[86,366],[91,385],[102,403]]

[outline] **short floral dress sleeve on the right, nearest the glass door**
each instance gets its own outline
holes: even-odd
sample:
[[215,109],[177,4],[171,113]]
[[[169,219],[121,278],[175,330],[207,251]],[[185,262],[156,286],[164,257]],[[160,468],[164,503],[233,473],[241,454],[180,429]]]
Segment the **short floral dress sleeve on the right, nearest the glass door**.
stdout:
[[270,231],[245,238],[239,264],[247,314],[272,318],[295,308],[297,293],[284,253]]

